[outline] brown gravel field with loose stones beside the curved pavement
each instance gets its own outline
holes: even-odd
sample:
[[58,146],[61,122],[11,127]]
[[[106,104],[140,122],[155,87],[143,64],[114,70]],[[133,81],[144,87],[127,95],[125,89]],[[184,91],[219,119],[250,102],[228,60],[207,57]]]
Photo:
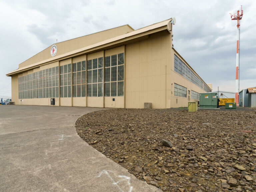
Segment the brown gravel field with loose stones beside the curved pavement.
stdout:
[[256,109],[111,109],[79,136],[163,191],[256,191]]

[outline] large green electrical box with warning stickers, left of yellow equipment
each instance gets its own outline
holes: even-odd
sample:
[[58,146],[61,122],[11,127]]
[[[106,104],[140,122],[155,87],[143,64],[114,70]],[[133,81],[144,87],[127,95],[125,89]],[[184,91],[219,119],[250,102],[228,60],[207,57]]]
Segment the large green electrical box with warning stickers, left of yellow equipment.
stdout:
[[200,108],[218,108],[217,93],[200,93]]

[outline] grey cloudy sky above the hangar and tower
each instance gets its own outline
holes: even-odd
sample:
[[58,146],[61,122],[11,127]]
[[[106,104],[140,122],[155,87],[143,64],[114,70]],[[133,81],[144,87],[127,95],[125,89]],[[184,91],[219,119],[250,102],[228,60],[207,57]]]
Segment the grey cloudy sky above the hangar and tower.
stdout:
[[124,24],[138,29],[171,17],[174,48],[213,90],[235,91],[236,21],[243,5],[240,90],[256,86],[256,1],[0,0],[0,98],[11,96],[18,64],[54,44]]

